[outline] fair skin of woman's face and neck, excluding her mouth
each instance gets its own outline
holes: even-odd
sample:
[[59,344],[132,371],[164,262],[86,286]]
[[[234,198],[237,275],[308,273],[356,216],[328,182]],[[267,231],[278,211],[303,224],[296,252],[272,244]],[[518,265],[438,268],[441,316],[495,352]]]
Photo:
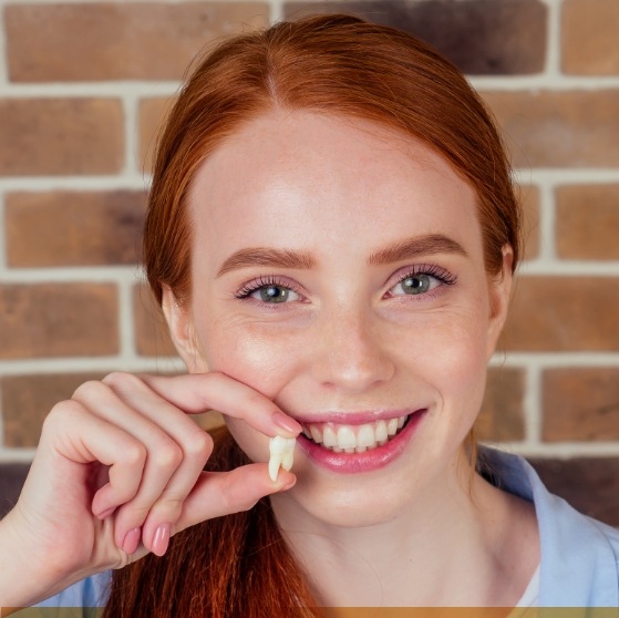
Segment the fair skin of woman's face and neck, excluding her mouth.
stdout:
[[[502,277],[484,270],[471,187],[412,138],[277,111],[203,164],[189,207],[190,300],[166,290],[164,310],[190,372],[231,377],[300,422],[425,410],[386,467],[339,474],[297,449],[297,484],[271,503],[318,598],[515,602],[537,564],[533,511],[473,474],[463,449],[512,281],[509,247]],[[385,257],[436,236],[451,245]],[[230,264],[246,249],[297,259]],[[425,293],[405,293],[411,271],[431,274]],[[260,286],[286,302],[261,300]],[[264,434],[227,423],[268,461]]]

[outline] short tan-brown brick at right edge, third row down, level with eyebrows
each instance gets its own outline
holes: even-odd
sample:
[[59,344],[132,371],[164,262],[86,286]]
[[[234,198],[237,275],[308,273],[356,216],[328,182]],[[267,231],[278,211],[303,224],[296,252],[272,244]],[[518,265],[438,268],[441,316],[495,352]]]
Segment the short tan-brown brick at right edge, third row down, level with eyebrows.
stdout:
[[619,185],[564,186],[557,195],[557,254],[619,259]]

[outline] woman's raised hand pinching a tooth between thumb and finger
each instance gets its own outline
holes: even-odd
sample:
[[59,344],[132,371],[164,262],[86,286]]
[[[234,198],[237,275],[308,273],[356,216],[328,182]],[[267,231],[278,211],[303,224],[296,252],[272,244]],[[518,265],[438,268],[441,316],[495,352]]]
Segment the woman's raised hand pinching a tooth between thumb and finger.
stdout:
[[187,414],[212,409],[267,436],[301,430],[221,373],[113,373],[55,405],[20,499],[0,523],[0,550],[19,553],[0,570],[0,605],[31,605],[148,552],[163,555],[175,533],[292,486],[285,471],[271,482],[266,463],[203,472],[213,441]]

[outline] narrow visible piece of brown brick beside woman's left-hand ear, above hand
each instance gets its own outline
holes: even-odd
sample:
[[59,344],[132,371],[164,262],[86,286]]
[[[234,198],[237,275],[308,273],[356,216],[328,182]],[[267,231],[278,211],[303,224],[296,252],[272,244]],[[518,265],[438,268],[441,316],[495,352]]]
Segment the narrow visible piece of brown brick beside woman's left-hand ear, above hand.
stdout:
[[144,357],[172,357],[172,343],[164,315],[148,286],[136,286],[133,292],[135,349]]

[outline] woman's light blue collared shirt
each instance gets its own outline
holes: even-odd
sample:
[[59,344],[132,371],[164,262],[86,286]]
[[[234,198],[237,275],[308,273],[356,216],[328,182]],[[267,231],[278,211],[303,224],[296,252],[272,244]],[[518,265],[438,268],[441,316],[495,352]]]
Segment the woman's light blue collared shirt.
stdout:
[[[619,607],[619,531],[575,511],[546,490],[523,457],[481,449],[502,490],[535,504],[541,560],[539,607]],[[103,607],[109,571],[84,579],[37,607]]]

